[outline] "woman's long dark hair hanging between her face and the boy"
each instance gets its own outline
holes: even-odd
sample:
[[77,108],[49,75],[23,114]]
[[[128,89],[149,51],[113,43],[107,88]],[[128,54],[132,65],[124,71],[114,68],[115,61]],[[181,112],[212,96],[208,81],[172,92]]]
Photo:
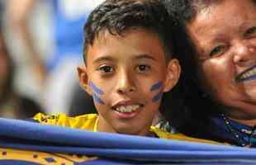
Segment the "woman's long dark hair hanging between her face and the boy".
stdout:
[[[183,68],[183,78],[180,82],[183,88],[184,106],[182,111],[173,110],[178,118],[173,119],[173,115],[167,116],[183,134],[203,138],[204,134],[211,131],[210,117],[223,113],[223,106],[213,101],[212,98],[203,92],[197,76],[196,46],[187,34],[187,24],[190,23],[198,12],[213,4],[224,0],[164,0],[164,5],[168,12],[175,15],[178,20],[176,35],[179,40],[175,40],[175,50],[180,55],[180,64]],[[256,0],[252,0],[256,2]],[[198,131],[200,130],[200,131]],[[209,137],[205,137],[209,138]],[[214,139],[214,137],[211,137]]]

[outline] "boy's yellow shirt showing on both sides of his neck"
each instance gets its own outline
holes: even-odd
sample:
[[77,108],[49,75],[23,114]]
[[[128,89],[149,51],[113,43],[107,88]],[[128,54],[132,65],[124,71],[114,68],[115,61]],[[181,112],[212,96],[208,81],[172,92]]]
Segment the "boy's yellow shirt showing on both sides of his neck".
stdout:
[[[82,130],[90,130],[93,132],[97,132],[97,121],[98,121],[97,114],[87,114],[87,115],[78,115],[75,117],[69,117],[65,114],[44,115],[44,114],[38,113],[33,117],[33,119],[37,120],[40,124],[59,125],[59,126],[70,127],[73,129],[82,129]],[[176,139],[176,140],[184,140],[184,141],[190,141],[190,142],[201,142],[201,143],[207,143],[207,144],[220,144],[211,140],[190,138],[184,134],[169,133],[155,126],[151,126],[150,131],[154,132],[154,134],[157,134],[160,139]]]

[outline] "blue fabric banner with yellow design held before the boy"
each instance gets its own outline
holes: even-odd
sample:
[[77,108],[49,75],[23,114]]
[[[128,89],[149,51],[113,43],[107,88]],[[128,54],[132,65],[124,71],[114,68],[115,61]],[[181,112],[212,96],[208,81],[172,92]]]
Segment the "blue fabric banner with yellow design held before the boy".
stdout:
[[[0,164],[256,164],[256,149],[0,119]],[[61,163],[60,163],[61,162]]]

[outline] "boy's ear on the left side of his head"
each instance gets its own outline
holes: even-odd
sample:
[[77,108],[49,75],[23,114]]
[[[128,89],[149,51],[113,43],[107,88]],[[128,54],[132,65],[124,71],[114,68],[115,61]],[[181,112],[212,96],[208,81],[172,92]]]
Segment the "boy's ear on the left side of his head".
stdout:
[[92,88],[89,86],[88,70],[86,66],[79,66],[77,69],[80,86],[83,87],[83,90],[92,96]]

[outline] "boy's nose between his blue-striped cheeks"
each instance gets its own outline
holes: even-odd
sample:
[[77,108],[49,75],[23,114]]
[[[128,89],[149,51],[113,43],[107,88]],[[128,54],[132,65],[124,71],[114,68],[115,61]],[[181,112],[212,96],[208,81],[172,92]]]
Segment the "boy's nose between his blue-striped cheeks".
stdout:
[[127,93],[135,92],[134,80],[131,78],[128,73],[120,73],[120,77],[117,80],[117,92]]

